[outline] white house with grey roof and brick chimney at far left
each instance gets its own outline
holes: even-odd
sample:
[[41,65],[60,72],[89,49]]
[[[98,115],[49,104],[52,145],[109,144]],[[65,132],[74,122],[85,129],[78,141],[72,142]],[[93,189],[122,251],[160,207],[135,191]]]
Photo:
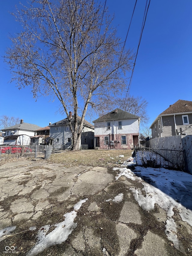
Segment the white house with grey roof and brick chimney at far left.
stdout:
[[[39,128],[41,128],[41,127],[38,126],[38,125],[24,123],[23,119],[21,119],[20,124],[13,125],[13,126],[10,126],[10,127],[2,129],[2,136],[4,137],[4,144],[5,144],[5,140],[7,140],[7,136],[11,136],[11,135],[27,135],[27,136],[31,137],[31,136],[35,136],[36,135],[36,130],[39,129]],[[9,140],[9,138],[8,138],[8,140]],[[20,139],[20,141],[23,141],[23,142],[25,140],[26,139],[23,139],[23,140]],[[18,144],[18,145],[21,145],[21,144]],[[23,145],[30,145],[30,141],[29,141],[29,144],[23,144]]]

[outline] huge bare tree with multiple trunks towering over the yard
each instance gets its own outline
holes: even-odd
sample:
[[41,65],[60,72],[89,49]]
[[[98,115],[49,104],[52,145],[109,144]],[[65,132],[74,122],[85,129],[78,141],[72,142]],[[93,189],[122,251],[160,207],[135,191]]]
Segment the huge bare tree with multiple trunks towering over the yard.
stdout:
[[34,98],[58,98],[70,123],[73,149],[79,149],[87,110],[125,90],[134,56],[116,36],[107,9],[93,0],[33,0],[14,15],[22,31],[6,51],[12,80],[19,88],[31,86]]

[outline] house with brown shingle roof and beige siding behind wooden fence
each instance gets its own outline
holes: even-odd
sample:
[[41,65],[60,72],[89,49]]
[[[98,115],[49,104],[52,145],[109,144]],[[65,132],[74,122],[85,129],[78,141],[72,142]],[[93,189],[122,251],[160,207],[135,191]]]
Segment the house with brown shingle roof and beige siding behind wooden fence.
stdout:
[[163,111],[150,126],[152,138],[192,135],[192,101],[178,100]]

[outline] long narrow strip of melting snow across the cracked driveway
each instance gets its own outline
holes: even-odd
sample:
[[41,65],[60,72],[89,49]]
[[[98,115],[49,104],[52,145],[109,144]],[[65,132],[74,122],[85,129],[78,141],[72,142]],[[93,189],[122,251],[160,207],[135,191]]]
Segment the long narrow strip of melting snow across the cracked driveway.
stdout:
[[[37,235],[37,242],[35,246],[28,252],[28,256],[34,256],[38,253],[41,253],[46,248],[55,245],[55,244],[61,244],[65,240],[67,240],[70,233],[73,231],[74,228],[76,228],[77,223],[74,223],[74,219],[77,215],[77,212],[80,207],[82,206],[82,203],[85,203],[88,200],[88,198],[80,200],[78,203],[76,203],[73,208],[74,210],[71,212],[67,212],[64,214],[64,221],[60,223],[56,223],[54,225],[45,225],[41,227],[38,230]],[[49,232],[51,227],[54,227],[55,229]]]

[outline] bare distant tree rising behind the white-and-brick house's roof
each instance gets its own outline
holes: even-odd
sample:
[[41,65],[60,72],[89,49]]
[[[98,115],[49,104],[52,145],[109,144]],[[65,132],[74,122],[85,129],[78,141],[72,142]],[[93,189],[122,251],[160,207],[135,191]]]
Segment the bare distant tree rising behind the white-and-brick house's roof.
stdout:
[[113,101],[113,107],[117,106],[122,110],[127,111],[136,116],[140,116],[141,123],[146,124],[149,122],[146,107],[148,102],[140,97],[129,96],[128,98],[116,98]]

